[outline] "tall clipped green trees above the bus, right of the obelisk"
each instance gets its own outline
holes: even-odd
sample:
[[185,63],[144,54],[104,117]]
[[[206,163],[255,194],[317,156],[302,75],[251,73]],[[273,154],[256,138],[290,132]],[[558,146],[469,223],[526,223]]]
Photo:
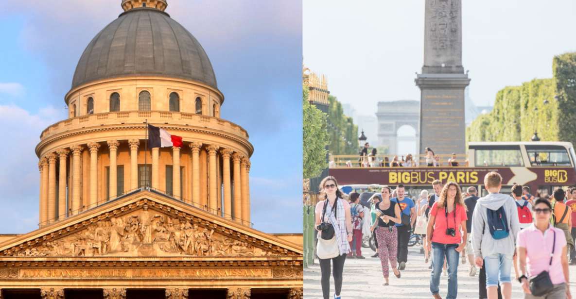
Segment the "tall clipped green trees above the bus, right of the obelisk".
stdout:
[[467,128],[467,141],[576,142],[576,53],[554,57],[554,78],[498,91],[494,109]]

